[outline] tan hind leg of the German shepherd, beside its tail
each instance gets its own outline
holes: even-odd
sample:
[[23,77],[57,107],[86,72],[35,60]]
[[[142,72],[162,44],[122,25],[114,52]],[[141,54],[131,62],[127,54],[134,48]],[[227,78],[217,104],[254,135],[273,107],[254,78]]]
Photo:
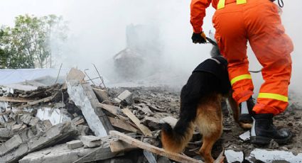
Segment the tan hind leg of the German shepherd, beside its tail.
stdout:
[[198,125],[203,135],[203,146],[200,148],[200,155],[206,163],[214,162],[212,158],[212,147],[222,134],[222,111],[220,101],[209,101],[206,105],[198,106],[198,116],[195,124]]

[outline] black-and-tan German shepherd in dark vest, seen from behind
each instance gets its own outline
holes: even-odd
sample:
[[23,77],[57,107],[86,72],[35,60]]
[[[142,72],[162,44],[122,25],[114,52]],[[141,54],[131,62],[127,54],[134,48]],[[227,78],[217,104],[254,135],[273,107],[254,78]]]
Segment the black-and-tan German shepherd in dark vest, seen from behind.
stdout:
[[[239,123],[239,106],[232,99],[231,84],[227,73],[227,60],[213,44],[210,59],[196,67],[180,93],[180,116],[174,128],[164,123],[161,130],[163,148],[169,152],[182,152],[193,136],[195,125],[203,135],[199,150],[205,162],[214,162],[211,150],[222,135],[222,100],[228,100],[234,120]],[[251,128],[248,123],[239,123]]]

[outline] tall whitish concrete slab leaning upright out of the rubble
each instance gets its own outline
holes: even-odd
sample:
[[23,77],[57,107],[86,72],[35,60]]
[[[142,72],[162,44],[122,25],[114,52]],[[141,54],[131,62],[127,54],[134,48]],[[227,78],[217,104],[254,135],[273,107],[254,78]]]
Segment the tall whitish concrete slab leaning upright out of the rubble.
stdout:
[[96,136],[105,137],[109,130],[114,130],[107,116],[102,112],[102,108],[97,106],[99,101],[90,84],[72,80],[67,81],[67,85],[70,99],[81,109],[90,129]]

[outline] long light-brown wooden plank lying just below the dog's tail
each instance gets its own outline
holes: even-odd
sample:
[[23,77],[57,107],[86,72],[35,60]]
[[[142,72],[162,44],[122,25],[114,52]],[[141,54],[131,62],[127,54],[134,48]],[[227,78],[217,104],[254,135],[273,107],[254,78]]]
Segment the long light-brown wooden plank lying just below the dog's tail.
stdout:
[[141,142],[139,140],[136,140],[132,137],[129,137],[123,133],[119,133],[116,130],[111,130],[110,135],[117,137],[119,140],[122,140],[126,143],[128,143],[129,145],[134,145],[136,147],[139,147],[141,149],[147,150],[149,152],[161,155],[163,157],[168,157],[170,159],[173,159],[177,162],[183,162],[183,163],[203,163],[203,161],[197,160],[197,159],[193,159],[178,153],[173,153],[173,152],[167,152],[166,150],[163,150],[162,148],[159,147],[155,147],[153,145],[149,145],[146,142]]

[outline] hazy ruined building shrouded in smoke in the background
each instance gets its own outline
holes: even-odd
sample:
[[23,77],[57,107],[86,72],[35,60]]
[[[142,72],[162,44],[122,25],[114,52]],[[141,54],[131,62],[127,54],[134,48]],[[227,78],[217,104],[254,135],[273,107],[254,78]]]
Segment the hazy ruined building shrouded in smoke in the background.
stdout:
[[160,66],[163,46],[155,26],[133,24],[126,27],[126,48],[114,55],[114,69],[126,80],[141,79],[156,72]]

